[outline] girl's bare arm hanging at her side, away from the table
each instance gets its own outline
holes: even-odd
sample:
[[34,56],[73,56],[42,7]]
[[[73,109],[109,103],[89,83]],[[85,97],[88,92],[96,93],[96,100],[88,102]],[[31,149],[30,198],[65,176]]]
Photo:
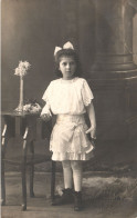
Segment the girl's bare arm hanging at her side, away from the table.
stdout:
[[93,102],[91,102],[87,107],[87,113],[89,117],[89,121],[91,121],[91,127],[89,129],[86,131],[86,133],[91,133],[92,138],[96,138],[96,118],[95,118],[95,110],[94,110],[94,106]]

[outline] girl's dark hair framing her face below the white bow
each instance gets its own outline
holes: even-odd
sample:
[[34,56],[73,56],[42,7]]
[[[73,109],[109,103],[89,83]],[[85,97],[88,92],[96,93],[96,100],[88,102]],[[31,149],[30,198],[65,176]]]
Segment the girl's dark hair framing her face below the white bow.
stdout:
[[61,72],[61,70],[59,70],[60,61],[61,61],[62,57],[72,57],[74,59],[74,61],[76,62],[76,69],[75,69],[74,77],[80,77],[82,75],[82,67],[80,63],[78,56],[73,49],[62,49],[56,52],[56,54],[55,54],[55,75],[60,78],[62,77],[62,72]]

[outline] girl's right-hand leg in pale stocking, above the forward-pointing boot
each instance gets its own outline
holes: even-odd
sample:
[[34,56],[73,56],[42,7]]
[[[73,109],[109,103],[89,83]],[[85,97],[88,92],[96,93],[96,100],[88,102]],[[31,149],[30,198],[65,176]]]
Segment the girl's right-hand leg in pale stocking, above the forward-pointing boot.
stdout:
[[82,190],[82,177],[83,177],[82,161],[71,160],[71,166],[73,170],[74,189],[75,191],[81,191]]

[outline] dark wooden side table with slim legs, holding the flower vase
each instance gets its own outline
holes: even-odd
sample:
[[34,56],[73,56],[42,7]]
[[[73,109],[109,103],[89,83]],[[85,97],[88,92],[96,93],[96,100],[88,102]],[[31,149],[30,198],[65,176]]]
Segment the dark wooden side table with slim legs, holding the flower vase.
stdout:
[[[36,153],[34,142],[40,139],[49,139],[52,123],[44,122],[39,115],[2,112],[3,131],[1,142],[1,205],[6,205],[4,164],[19,166],[22,177],[22,210],[27,210],[27,167],[30,167],[30,197],[34,197],[33,178],[34,165],[51,161],[51,156]],[[21,156],[7,157],[7,145],[10,138],[20,138]],[[28,152],[30,150],[30,152]],[[14,151],[15,152],[15,151]],[[54,200],[55,162],[51,161],[51,200]]]

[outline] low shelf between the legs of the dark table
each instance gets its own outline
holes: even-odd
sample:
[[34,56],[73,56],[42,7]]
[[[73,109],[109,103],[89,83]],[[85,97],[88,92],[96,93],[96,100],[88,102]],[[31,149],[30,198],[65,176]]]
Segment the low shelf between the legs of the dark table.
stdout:
[[[10,165],[22,165],[22,156],[18,156],[18,157],[11,157],[11,158],[4,158],[3,159],[6,162],[10,164]],[[41,155],[41,153],[34,153],[32,155],[28,155],[27,156],[27,165],[36,165],[36,164],[41,164],[41,162],[46,162],[51,160],[51,156],[46,156],[46,155]]]

